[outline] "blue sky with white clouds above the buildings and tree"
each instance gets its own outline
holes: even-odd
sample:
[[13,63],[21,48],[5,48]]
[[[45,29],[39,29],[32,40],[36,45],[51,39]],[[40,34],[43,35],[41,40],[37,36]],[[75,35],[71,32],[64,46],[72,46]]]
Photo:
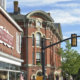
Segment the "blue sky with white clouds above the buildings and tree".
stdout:
[[[13,12],[13,1],[7,0],[7,12]],[[22,14],[27,14],[34,10],[50,12],[55,23],[61,24],[63,39],[71,34],[80,35],[80,0],[16,0]],[[77,47],[73,49],[80,53],[80,38]],[[65,43],[61,43],[64,48]]]

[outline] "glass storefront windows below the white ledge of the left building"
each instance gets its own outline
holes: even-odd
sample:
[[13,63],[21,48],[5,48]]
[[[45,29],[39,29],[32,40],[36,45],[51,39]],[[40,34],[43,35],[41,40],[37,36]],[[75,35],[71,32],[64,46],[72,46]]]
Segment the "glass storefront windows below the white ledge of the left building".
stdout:
[[0,62],[0,80],[20,80],[20,67]]

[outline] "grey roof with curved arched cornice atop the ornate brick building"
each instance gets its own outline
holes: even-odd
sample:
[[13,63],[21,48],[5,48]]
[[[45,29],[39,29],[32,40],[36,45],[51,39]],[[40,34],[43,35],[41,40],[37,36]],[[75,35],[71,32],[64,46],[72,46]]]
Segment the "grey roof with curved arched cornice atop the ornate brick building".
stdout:
[[9,13],[9,14],[16,21],[17,20],[18,21],[20,21],[20,20],[25,21],[26,19],[31,19],[32,16],[42,17],[46,22],[53,23],[53,28],[56,30],[56,33],[58,34],[59,38],[62,39],[62,31],[61,31],[60,23],[54,23],[54,20],[52,19],[52,17],[44,11],[36,10],[36,11],[32,11],[26,15],[14,14],[14,13]]

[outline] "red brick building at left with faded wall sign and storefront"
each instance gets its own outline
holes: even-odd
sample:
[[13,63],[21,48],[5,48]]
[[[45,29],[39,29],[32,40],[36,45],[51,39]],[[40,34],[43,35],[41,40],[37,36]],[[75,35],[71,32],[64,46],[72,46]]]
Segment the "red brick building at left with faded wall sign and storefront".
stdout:
[[20,78],[22,28],[0,7],[0,80]]

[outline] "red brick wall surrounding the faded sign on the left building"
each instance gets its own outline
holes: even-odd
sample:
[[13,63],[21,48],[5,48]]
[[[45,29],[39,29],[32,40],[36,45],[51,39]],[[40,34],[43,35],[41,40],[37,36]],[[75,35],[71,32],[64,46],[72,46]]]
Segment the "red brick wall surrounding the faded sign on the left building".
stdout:
[[13,24],[11,24],[11,22],[8,21],[7,18],[5,18],[5,16],[2,13],[0,14],[0,26],[3,26],[4,29],[8,30],[9,33],[14,36],[14,38],[13,38],[14,49],[8,48],[7,46],[0,44],[0,51],[5,52],[5,53],[12,55],[14,57],[20,58],[21,57],[20,54],[17,53],[17,51],[16,51],[16,32],[18,32],[19,35],[21,34],[21,32],[19,32],[15,28],[15,26]]

